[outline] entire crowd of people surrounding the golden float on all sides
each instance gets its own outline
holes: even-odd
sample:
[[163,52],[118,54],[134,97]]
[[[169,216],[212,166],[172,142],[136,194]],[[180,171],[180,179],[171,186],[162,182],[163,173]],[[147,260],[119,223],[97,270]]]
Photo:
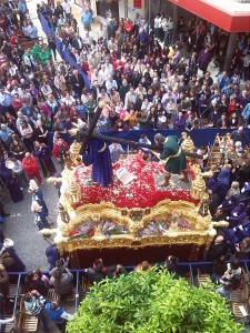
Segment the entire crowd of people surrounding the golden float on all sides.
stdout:
[[[104,101],[104,108],[97,122],[99,132],[170,128],[186,131],[187,137],[198,128],[232,129],[230,142],[223,145],[223,163],[213,163],[213,176],[207,180],[212,219],[227,220],[229,226],[218,230],[204,258],[214,264],[212,280],[222,283],[218,292],[228,297],[241,283],[239,259],[247,259],[250,251],[249,138],[244,132],[244,127],[250,127],[249,33],[239,34],[231,67],[223,71],[229,34],[197,18],[180,17],[173,22],[159,13],[152,24],[140,14],[133,21],[110,18],[100,23],[96,37],[88,2],[81,22],[72,16],[69,0],[42,1],[37,10],[81,71],[61,59],[52,34],[39,38],[24,0],[1,1],[1,188],[6,186],[12,201],[19,202],[23,188],[29,186],[37,229],[50,229],[41,191],[43,179],[57,173],[57,160],[63,170],[69,151],[66,134],[76,127],[88,129],[100,101]],[[178,38],[173,40],[176,23]],[[209,70],[212,64],[219,71],[216,77]],[[52,149],[49,140],[53,141]],[[150,144],[146,134],[140,142]],[[110,152],[112,162],[124,153],[117,143],[110,145]],[[150,157],[148,149],[143,154]],[[206,161],[199,163],[206,168]],[[0,215],[9,215],[1,203]],[[236,259],[227,266],[232,255]],[[166,265],[179,276],[174,255]],[[142,262],[137,270],[150,268]],[[24,266],[20,266],[22,270]],[[106,268],[98,259],[84,273],[89,280],[100,281],[124,274],[126,269],[121,264]],[[0,305],[8,294],[7,275],[0,266]],[[50,286],[62,297],[72,291],[68,261],[57,258],[51,262],[50,275],[48,279],[40,270],[27,275],[24,305],[41,319],[46,332],[44,313],[64,332],[70,314],[58,302],[44,306],[44,301]]]

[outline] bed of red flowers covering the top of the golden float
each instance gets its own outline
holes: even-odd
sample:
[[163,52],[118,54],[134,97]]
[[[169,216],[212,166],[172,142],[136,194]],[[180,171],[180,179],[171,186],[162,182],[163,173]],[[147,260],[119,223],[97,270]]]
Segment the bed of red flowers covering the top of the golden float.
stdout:
[[[74,172],[74,178],[81,186],[82,204],[112,202],[119,208],[148,208],[154,206],[164,199],[184,200],[197,203],[190,196],[189,190],[181,188],[181,181],[170,182],[170,186],[160,188],[157,185],[156,178],[164,173],[163,164],[146,162],[140,154],[131,155],[129,159],[120,160],[113,165],[113,171],[126,168],[134,175],[134,180],[124,185],[116,174],[113,183],[108,188],[99,184],[89,185],[91,179],[91,167],[79,165]],[[193,179],[193,174],[191,174]]]

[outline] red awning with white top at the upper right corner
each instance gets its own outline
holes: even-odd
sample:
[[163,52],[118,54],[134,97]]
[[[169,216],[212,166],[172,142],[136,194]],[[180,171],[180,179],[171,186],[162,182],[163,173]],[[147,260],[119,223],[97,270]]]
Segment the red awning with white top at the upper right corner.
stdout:
[[234,0],[169,1],[229,32],[250,31],[250,3]]

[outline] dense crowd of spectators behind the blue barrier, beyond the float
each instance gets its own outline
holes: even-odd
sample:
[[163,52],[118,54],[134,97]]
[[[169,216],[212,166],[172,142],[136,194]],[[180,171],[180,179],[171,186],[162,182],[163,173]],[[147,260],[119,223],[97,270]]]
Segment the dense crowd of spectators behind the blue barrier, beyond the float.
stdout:
[[[39,157],[42,151],[44,158],[51,131],[56,142],[76,124],[87,128],[100,100],[106,107],[99,131],[249,125],[247,33],[239,34],[231,68],[219,68],[212,78],[208,65],[223,59],[228,33],[208,22],[193,18],[186,22],[181,17],[173,41],[172,19],[163,13],[153,26],[140,16],[133,22],[111,18],[106,26],[100,23],[96,38],[89,4],[81,16],[83,33],[71,8],[67,0],[49,1],[38,6],[38,13],[48,19],[89,82],[60,59],[52,34],[47,41],[38,38],[23,1],[1,4],[0,138],[18,160],[26,150]],[[28,40],[32,43],[26,47]]]

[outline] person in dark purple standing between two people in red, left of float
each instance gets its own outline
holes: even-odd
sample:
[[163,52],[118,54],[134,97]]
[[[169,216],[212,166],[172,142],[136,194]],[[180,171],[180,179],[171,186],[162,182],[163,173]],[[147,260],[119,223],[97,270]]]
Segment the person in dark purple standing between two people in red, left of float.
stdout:
[[37,157],[39,160],[43,176],[51,176],[57,172],[53,162],[50,158],[49,147],[47,147],[44,143],[34,141],[33,155]]

